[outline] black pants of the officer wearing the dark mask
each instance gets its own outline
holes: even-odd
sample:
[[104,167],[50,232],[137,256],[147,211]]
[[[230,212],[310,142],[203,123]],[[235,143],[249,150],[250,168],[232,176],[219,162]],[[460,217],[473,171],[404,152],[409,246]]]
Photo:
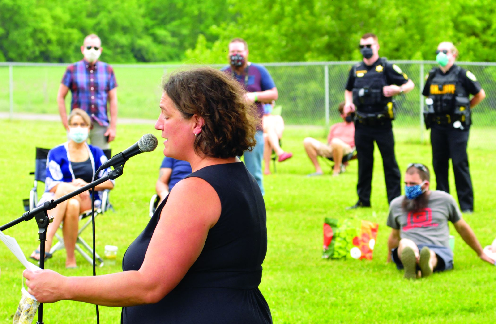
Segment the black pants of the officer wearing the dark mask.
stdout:
[[394,156],[392,129],[357,125],[355,128],[358,155],[357,193],[359,201],[364,205],[369,205],[371,199],[374,141],[382,156],[388,203],[401,195],[401,175]]

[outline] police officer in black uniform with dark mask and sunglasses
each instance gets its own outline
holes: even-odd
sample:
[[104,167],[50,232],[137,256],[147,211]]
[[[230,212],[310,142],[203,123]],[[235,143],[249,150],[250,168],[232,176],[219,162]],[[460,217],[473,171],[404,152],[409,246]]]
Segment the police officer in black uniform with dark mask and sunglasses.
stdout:
[[394,156],[391,121],[395,109],[392,97],[407,93],[412,80],[396,64],[379,58],[377,36],[368,33],[360,39],[362,62],[350,69],[345,90],[345,109],[355,111],[355,145],[358,154],[358,202],[348,209],[370,207],[373,170],[373,142],[382,156],[387,201],[401,195],[401,175]]

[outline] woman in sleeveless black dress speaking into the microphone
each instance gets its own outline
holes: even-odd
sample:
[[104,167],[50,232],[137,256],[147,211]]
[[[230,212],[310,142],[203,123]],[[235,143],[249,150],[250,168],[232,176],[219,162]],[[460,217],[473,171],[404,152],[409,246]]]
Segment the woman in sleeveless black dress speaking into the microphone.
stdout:
[[164,155],[191,164],[123,259],[123,272],[24,271],[42,303],[123,307],[123,323],[272,323],[258,285],[267,251],[260,188],[237,158],[255,145],[254,107],[228,75],[198,68],[164,84]]

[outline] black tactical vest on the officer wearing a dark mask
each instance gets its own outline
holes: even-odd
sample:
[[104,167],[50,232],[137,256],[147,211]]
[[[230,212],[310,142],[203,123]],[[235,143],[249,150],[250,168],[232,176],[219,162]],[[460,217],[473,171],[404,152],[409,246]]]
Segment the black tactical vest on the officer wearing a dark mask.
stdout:
[[[385,75],[387,61],[383,58],[377,60],[377,64],[370,68],[363,61],[353,66],[355,82],[353,84],[353,103],[357,111],[372,114],[387,113],[388,108],[392,116],[392,99],[384,97],[382,87],[387,86]],[[370,69],[368,70],[367,67]],[[388,104],[391,103],[391,104]]]

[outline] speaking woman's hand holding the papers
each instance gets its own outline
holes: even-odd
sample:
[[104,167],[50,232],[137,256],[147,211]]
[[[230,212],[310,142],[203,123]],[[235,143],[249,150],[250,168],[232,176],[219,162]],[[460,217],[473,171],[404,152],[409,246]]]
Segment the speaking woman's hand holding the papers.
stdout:
[[[54,303],[66,299],[66,279],[63,275],[52,270],[22,272],[26,278],[28,292],[35,296],[40,303]],[[65,297],[65,298],[64,298]]]

